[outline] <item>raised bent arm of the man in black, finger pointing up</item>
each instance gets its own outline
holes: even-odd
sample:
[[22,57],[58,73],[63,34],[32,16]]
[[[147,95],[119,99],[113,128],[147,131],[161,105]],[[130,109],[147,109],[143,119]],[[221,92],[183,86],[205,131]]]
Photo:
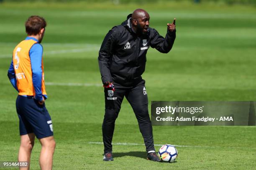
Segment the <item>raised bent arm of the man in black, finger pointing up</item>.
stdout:
[[156,48],[159,52],[168,53],[172,49],[174,40],[176,38],[175,20],[172,24],[167,24],[167,33],[165,38],[159,35],[159,33],[152,29],[151,32],[151,47]]

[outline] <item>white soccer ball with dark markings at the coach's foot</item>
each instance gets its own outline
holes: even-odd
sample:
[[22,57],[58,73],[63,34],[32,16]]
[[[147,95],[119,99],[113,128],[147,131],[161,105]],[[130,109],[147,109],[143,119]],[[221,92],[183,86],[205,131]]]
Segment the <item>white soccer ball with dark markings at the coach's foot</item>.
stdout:
[[163,145],[159,149],[158,155],[162,161],[173,163],[178,156],[178,151],[173,145]]

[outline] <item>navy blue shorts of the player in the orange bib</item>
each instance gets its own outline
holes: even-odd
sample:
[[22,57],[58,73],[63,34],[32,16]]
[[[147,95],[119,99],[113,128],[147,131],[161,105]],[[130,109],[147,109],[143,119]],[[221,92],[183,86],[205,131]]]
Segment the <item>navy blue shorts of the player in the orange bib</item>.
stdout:
[[16,110],[20,120],[20,135],[34,133],[38,139],[53,136],[51,117],[45,104],[40,105],[33,96],[18,95]]

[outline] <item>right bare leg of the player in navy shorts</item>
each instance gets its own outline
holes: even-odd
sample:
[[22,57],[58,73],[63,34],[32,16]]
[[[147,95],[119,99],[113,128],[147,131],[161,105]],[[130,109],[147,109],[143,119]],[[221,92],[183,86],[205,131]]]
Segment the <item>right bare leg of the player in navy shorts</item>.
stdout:
[[56,146],[54,137],[49,136],[39,139],[39,141],[42,145],[39,160],[41,170],[52,170],[53,154]]

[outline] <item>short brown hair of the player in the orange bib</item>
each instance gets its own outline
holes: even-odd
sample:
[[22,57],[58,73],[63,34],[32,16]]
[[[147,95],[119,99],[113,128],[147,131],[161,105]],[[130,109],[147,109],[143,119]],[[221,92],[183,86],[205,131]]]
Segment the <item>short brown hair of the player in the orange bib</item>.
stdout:
[[46,27],[46,21],[39,16],[31,16],[25,23],[28,35],[37,35],[42,28]]

